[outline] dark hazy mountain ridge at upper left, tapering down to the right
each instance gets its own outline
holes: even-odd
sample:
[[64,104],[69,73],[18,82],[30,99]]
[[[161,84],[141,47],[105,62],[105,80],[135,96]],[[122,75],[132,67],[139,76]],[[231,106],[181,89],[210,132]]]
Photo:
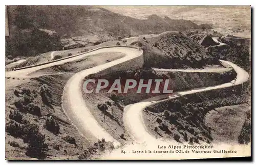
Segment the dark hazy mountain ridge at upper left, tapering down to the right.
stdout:
[[[202,27],[190,20],[176,20],[168,17],[150,15],[148,19],[136,19],[113,13],[109,10],[94,6],[8,6],[8,19],[10,36],[6,38],[8,45],[7,54],[19,56],[35,56],[38,53],[59,49],[58,37],[72,38],[81,35],[107,36],[114,39],[118,36],[128,37],[141,34],[159,34],[165,31],[185,31],[201,29]],[[44,39],[33,39],[32,31],[40,30]],[[42,31],[44,30],[44,31]],[[50,33],[56,38],[51,39],[58,43],[48,42]],[[48,33],[48,35],[45,35]],[[14,37],[15,36],[15,37]],[[44,42],[42,42],[42,40]],[[14,43],[14,44],[13,44]],[[35,48],[31,50],[30,45]],[[25,47],[23,45],[26,45]],[[57,45],[57,46],[56,46]],[[36,47],[40,47],[37,50]]]

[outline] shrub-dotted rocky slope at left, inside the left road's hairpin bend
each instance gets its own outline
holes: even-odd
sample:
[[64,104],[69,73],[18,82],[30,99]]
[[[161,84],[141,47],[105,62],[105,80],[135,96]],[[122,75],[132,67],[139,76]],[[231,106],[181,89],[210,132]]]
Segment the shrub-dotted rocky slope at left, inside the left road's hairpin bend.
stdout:
[[[63,88],[75,72],[120,57],[96,54],[39,70],[32,73],[35,78],[6,78],[6,158],[77,159],[90,148],[62,109]],[[34,143],[29,133],[35,134]]]

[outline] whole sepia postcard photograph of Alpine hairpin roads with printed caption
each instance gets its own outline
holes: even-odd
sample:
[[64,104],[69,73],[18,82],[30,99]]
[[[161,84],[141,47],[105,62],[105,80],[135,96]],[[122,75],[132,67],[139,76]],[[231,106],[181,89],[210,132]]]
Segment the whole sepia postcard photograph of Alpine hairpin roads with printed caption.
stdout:
[[5,6],[5,159],[251,158],[251,12]]

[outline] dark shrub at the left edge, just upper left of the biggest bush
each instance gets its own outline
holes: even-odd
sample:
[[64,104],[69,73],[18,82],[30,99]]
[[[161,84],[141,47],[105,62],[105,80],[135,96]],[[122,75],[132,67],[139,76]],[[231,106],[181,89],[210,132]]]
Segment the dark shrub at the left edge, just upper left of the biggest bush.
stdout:
[[22,137],[23,135],[22,125],[14,122],[13,120],[6,124],[5,130],[13,137]]

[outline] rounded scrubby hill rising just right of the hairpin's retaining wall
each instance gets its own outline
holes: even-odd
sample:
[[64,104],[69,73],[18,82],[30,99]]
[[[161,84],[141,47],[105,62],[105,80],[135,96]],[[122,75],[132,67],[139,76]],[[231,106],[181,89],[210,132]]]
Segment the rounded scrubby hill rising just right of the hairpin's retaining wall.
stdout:
[[131,45],[143,49],[145,67],[201,68],[219,64],[202,45],[181,32],[141,36]]

